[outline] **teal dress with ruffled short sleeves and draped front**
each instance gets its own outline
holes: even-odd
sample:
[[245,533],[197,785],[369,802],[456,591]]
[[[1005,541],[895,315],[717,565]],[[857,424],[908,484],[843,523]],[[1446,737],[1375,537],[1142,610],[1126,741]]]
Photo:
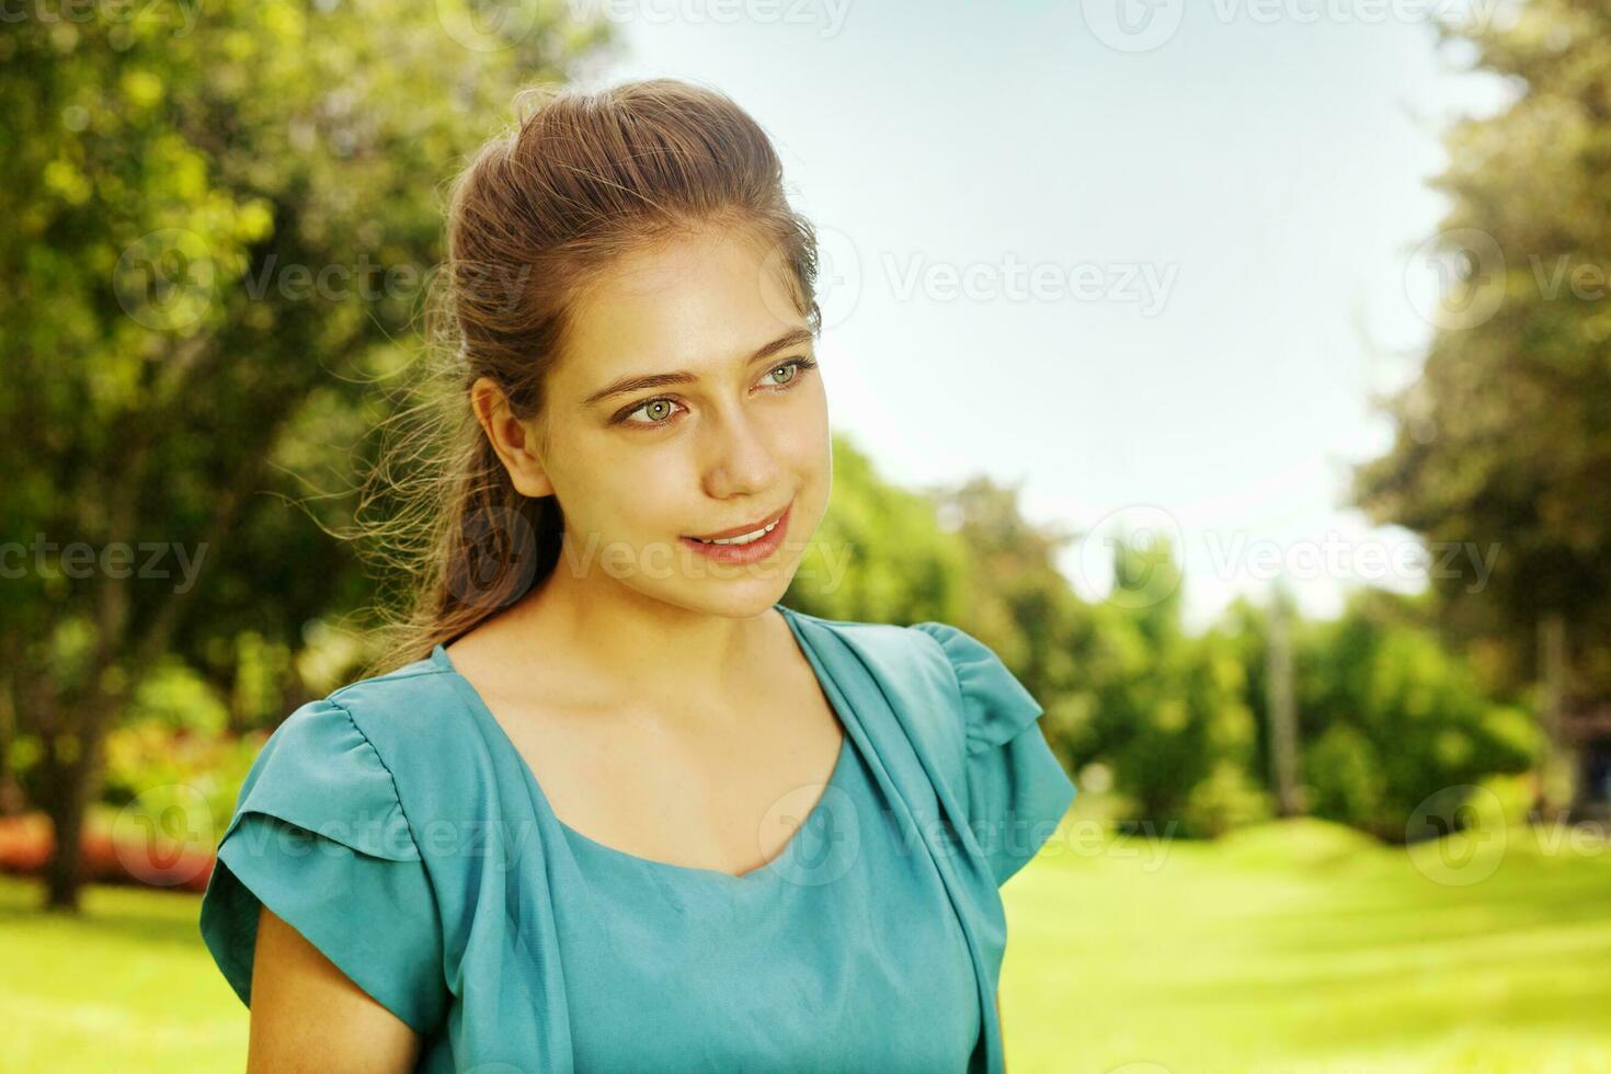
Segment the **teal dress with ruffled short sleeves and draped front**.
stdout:
[[419,1071],[997,1074],[999,889],[1075,797],[1041,707],[954,626],[777,609],[844,746],[772,861],[574,831],[437,646],[264,744],[201,900],[224,977],[250,1005],[261,903],[422,1034]]

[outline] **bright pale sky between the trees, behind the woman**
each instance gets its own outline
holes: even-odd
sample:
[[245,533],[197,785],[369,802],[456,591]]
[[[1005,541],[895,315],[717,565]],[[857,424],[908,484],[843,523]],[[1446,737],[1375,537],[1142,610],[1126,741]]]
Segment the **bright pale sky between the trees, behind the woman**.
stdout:
[[834,428],[889,480],[1021,481],[1092,533],[1086,597],[1115,525],[1171,531],[1194,628],[1276,568],[1313,615],[1424,588],[1342,502],[1431,335],[1440,129],[1501,87],[1437,48],[1448,0],[1116,2],[615,0],[599,81],[699,81],[773,135]]

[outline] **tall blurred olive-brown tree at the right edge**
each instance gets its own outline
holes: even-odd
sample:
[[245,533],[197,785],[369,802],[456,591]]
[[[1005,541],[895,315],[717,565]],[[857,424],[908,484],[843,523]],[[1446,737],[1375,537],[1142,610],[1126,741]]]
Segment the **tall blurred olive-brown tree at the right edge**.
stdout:
[[[1452,198],[1435,237],[1450,287],[1427,311],[1437,332],[1419,380],[1384,401],[1395,443],[1355,473],[1355,498],[1434,543],[1450,617],[1518,654],[1489,651],[1489,670],[1542,678],[1539,638],[1561,636],[1577,692],[1605,697],[1611,8],[1529,0],[1508,14],[1440,26],[1516,97],[1447,135],[1434,185]],[[1484,581],[1471,551],[1490,547]]]

